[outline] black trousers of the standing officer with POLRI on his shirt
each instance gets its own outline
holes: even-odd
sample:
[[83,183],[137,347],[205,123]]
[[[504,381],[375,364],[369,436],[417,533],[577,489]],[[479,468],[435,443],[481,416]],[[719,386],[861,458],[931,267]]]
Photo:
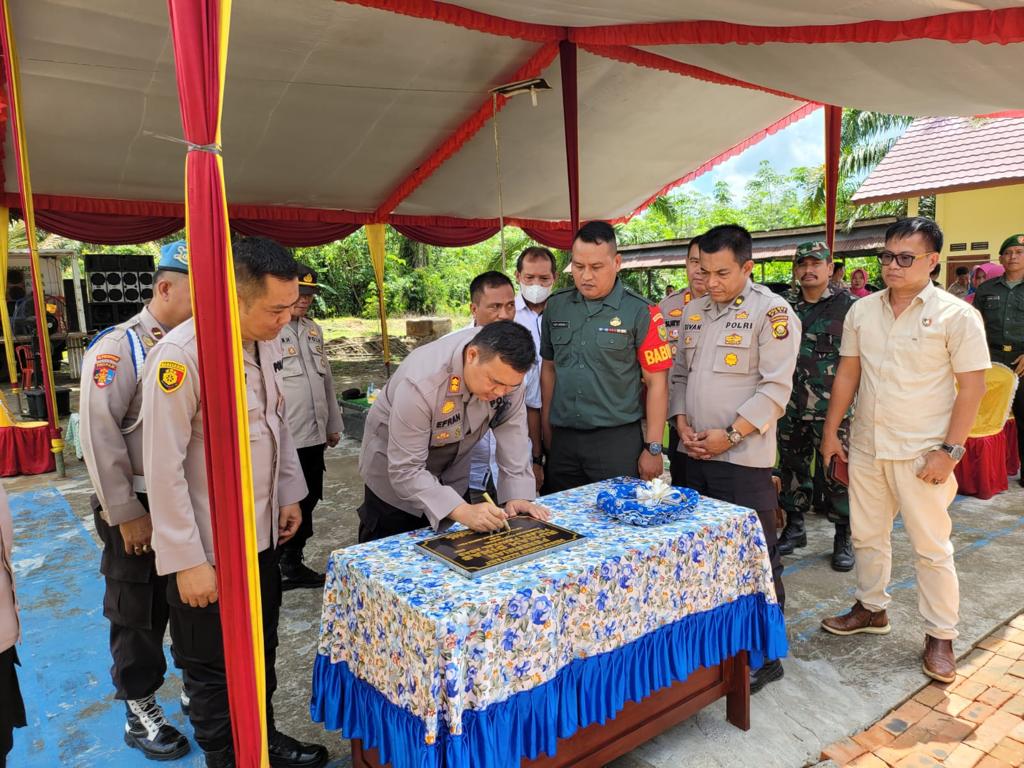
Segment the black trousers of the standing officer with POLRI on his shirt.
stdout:
[[782,556],[778,554],[775,534],[775,508],[778,495],[771,481],[771,468],[741,467],[737,464],[697,461],[686,457],[686,477],[690,487],[712,499],[738,504],[756,510],[765,531],[765,544],[771,558],[771,577],[775,583],[778,605],[785,610],[785,588],[782,586]]

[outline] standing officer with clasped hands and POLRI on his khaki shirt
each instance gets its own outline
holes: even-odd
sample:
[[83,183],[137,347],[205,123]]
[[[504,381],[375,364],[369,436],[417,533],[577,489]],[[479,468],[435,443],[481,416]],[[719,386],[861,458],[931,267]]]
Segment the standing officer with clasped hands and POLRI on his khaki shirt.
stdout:
[[[800,319],[783,299],[751,281],[751,234],[741,226],[723,224],[701,236],[700,266],[708,296],[686,307],[669,414],[687,455],[690,487],[757,510],[784,608],[771,474],[775,424],[793,391]],[[751,691],[780,677],[782,665],[769,662],[752,675]]]

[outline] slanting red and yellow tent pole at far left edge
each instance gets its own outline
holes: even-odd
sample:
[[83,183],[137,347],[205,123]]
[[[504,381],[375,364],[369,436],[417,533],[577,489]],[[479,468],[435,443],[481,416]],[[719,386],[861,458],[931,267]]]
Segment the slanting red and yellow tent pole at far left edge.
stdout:
[[[43,374],[43,389],[46,395],[46,421],[49,424],[50,451],[53,452],[56,460],[57,474],[63,477],[63,440],[60,437],[57,402],[53,392],[53,356],[50,351],[50,335],[46,328],[46,295],[43,292],[43,279],[39,268],[39,244],[36,239],[32,174],[29,170],[29,150],[25,140],[25,123],[22,115],[22,76],[18,70],[17,48],[14,45],[14,29],[10,22],[8,0],[3,0],[0,4],[0,12],[3,13],[2,24],[0,24],[0,37],[2,37],[0,42],[3,44],[3,67],[7,79],[7,100],[10,108],[11,135],[14,139],[17,185],[22,196],[22,214],[25,218],[25,233],[29,241],[29,258],[32,263],[33,305],[36,313],[36,335],[39,339],[39,365]],[[6,237],[6,227],[4,234]],[[6,276],[6,269],[4,275]],[[6,296],[3,298],[6,299]]]

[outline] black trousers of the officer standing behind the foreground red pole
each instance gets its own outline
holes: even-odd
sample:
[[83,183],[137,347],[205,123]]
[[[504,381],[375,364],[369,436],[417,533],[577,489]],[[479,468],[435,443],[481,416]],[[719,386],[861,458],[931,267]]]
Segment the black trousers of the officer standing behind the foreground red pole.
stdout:
[[[278,657],[278,621],[281,616],[281,570],[278,552],[259,553],[259,587],[263,604],[263,663],[266,671],[266,723],[272,734],[270,699],[278,689],[274,663]],[[190,699],[188,719],[196,742],[204,752],[231,744],[231,716],[227,703],[224,641],[220,630],[220,604],[194,608],[181,602],[177,579],[167,580],[167,602],[171,607],[171,655],[181,670],[185,693]]]

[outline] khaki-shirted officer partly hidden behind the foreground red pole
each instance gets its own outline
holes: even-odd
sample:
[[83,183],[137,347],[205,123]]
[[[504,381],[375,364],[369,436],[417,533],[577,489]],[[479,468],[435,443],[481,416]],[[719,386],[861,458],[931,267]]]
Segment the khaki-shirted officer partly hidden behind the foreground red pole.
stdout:
[[[298,265],[280,245],[259,238],[237,242],[233,251],[259,552],[270,764],[319,768],[327,763],[327,750],[278,731],[270,706],[278,687],[274,660],[281,610],[275,547],[298,530],[299,502],[307,494],[278,378],[282,367],[278,335],[298,298]],[[188,717],[208,768],[233,768],[195,323],[171,331],[150,356],[142,381],[142,458],[157,572],[173,577],[167,584],[171,653],[183,673],[190,699]]]

